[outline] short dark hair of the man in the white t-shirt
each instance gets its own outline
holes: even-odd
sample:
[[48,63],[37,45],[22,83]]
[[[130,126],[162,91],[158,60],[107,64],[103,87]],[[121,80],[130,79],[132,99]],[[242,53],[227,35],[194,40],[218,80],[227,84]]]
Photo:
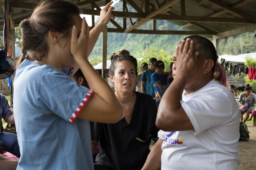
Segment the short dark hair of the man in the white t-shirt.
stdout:
[[194,51],[198,51],[199,52],[199,59],[211,59],[214,62],[213,68],[212,68],[212,73],[214,73],[214,69],[215,69],[215,64],[217,62],[217,52],[216,49],[213,45],[213,43],[201,36],[201,35],[191,35],[191,36],[187,36],[186,38],[184,38],[184,40],[186,40],[187,38],[190,38],[191,40],[194,41]]

